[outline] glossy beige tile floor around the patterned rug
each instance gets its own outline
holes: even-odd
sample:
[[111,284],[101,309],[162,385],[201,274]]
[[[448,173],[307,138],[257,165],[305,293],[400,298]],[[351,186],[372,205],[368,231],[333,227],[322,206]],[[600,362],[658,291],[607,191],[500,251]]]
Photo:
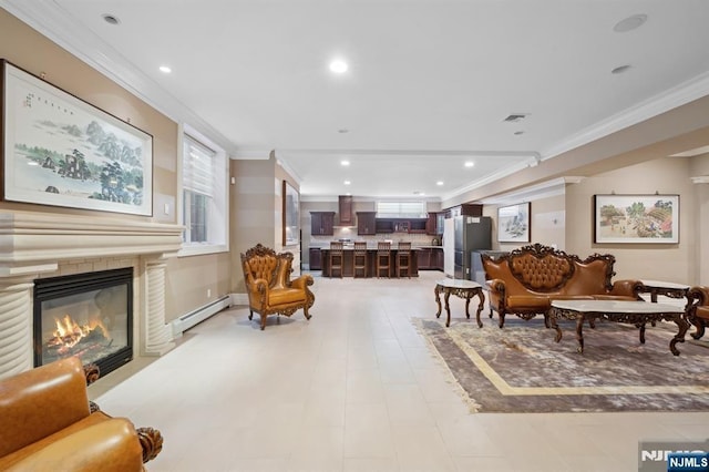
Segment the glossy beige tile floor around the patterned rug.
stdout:
[[469,413],[410,320],[441,276],[316,276],[310,321],[234,307],[90,396],[162,431],[150,471],[633,471],[638,441],[709,437],[709,413]]

